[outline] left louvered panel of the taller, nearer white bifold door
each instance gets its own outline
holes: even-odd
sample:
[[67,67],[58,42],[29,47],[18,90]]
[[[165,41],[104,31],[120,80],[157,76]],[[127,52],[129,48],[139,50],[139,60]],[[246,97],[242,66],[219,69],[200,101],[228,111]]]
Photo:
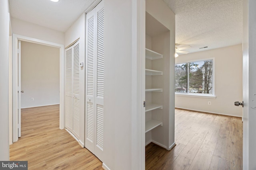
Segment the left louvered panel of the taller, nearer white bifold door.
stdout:
[[94,153],[94,59],[95,17],[93,10],[86,14],[86,108],[85,147]]

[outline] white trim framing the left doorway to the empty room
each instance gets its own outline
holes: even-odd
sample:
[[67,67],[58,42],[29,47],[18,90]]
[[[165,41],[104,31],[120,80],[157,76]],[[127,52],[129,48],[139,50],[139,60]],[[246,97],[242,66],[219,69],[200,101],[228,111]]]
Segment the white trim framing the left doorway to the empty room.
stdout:
[[12,34],[12,141],[18,141],[18,41],[27,41],[60,48],[60,129],[64,129],[64,45]]

